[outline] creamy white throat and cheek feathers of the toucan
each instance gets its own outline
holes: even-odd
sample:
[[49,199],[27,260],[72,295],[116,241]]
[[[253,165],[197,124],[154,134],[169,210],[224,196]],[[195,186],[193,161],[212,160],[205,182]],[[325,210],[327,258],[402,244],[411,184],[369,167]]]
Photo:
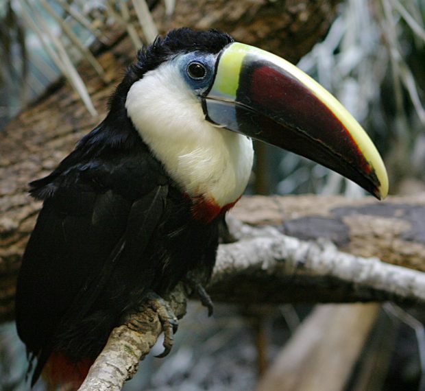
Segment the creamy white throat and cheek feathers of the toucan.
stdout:
[[172,62],[135,82],[125,107],[143,141],[184,192],[219,206],[241,196],[252,169],[252,141],[206,121],[199,98]]

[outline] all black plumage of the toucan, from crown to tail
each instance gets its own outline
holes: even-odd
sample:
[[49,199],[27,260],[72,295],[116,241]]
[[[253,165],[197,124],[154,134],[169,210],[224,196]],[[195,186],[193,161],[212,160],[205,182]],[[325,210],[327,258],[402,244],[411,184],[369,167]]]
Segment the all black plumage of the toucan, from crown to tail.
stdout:
[[215,263],[218,220],[194,220],[191,201],[165,174],[127,117],[130,86],[179,51],[217,53],[232,39],[178,29],[141,51],[110,99],[108,117],[49,176],[32,182],[44,206],[16,293],[21,339],[38,356],[96,357],[119,318],[148,289],[167,292]]

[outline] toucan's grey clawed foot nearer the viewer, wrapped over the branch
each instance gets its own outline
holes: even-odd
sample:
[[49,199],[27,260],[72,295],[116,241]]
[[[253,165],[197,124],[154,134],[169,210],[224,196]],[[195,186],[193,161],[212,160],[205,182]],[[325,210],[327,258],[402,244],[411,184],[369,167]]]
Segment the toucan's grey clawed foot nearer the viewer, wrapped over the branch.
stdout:
[[155,292],[149,293],[146,299],[147,305],[158,314],[158,318],[162,324],[162,332],[164,333],[162,346],[164,346],[164,351],[156,356],[162,358],[168,355],[173,347],[173,334],[178,329],[178,320],[169,304]]

